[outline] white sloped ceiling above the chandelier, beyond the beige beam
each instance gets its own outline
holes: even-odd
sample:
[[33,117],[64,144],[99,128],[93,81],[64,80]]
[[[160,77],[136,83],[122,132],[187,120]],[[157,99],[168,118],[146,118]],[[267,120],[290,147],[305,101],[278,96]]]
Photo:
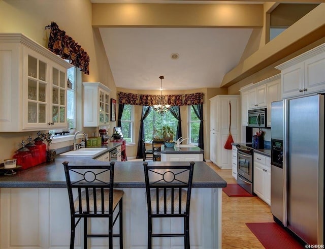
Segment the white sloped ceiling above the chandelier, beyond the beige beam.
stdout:
[[[100,28],[117,87],[185,90],[219,87],[236,67],[251,28]],[[179,58],[173,60],[172,53]]]

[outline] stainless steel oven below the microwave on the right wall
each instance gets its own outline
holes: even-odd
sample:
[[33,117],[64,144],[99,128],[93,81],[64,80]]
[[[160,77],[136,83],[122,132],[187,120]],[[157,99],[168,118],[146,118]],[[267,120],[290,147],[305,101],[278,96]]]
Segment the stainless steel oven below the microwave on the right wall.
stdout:
[[253,194],[253,148],[237,146],[237,183]]

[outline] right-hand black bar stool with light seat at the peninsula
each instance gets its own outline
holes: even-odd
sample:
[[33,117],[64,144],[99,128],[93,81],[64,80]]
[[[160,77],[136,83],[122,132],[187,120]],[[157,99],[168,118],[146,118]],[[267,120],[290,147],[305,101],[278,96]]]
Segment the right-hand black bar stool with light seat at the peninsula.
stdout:
[[[148,166],[143,163],[148,209],[148,249],[152,237],[184,237],[184,248],[189,249],[189,204],[194,162],[188,166]],[[183,217],[183,233],[152,233],[152,219]]]

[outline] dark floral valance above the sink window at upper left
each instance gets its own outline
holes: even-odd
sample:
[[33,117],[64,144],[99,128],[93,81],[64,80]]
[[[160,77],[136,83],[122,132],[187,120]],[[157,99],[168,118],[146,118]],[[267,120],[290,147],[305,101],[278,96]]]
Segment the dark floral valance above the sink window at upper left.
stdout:
[[89,74],[90,58],[87,52],[75,40],[67,36],[64,30],[59,29],[55,22],[51,22],[48,48],[62,59],[69,59],[72,65],[80,68],[85,74]]

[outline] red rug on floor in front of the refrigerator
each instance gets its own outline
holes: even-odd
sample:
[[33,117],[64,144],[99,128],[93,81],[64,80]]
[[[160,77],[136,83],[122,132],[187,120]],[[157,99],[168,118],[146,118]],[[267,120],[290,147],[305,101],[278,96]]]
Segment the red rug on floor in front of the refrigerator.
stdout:
[[256,238],[266,249],[299,249],[305,248],[293,236],[275,222],[246,223]]

